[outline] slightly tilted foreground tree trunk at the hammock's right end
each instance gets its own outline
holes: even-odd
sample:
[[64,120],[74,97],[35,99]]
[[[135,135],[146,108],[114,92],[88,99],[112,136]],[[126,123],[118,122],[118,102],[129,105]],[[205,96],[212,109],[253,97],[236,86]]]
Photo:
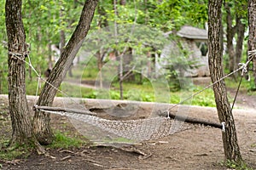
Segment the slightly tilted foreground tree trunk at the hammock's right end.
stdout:
[[[221,5],[222,1],[208,1],[208,48],[209,69],[212,82],[224,77],[222,68],[222,55],[220,53],[220,29],[221,29]],[[220,122],[225,122],[225,132],[222,133],[224,143],[224,156],[226,160],[241,163],[241,153],[237,143],[235,121],[227,98],[224,80],[213,86],[215,102]]]

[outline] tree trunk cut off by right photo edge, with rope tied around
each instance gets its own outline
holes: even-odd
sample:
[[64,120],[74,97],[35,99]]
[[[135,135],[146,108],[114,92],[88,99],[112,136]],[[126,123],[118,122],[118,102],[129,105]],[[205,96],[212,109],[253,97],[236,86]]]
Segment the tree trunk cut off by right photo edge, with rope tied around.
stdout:
[[[248,1],[248,26],[249,26],[249,39],[248,39],[248,51],[256,49],[256,2],[255,0]],[[253,77],[254,84],[256,86],[256,57],[253,57]]]

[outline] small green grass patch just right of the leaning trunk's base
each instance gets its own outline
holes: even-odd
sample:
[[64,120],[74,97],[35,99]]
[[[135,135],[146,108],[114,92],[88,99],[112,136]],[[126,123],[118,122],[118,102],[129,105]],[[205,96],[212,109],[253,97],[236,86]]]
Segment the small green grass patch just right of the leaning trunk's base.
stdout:
[[49,145],[50,148],[79,148],[86,144],[84,140],[79,138],[69,137],[67,133],[61,133],[60,131],[55,132],[55,139],[52,144]]

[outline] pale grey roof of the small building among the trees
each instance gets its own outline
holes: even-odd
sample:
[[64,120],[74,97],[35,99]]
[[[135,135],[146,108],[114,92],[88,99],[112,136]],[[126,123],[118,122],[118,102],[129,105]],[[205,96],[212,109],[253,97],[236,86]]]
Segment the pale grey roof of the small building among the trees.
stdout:
[[177,36],[189,39],[207,40],[207,30],[195,28],[193,26],[183,26],[180,31],[177,31]]

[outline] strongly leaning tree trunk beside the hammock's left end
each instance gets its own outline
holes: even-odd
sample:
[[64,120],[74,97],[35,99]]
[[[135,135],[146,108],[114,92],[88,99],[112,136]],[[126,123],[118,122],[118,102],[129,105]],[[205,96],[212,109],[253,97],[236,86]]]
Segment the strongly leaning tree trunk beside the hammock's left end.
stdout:
[[[58,59],[53,70],[51,71],[48,82],[45,83],[44,88],[38,99],[37,105],[52,105],[62,80],[67,74],[68,69],[73,63],[75,55],[84,42],[88,31],[90,30],[90,23],[93,18],[98,0],[87,0],[84,3],[84,8],[80,16],[79,24],[73,32],[72,37],[63,50],[60,59]],[[53,88],[51,85],[55,88]],[[53,139],[53,133],[49,126],[50,116],[48,113],[42,111],[35,111],[33,119],[33,131],[41,144],[50,144]]]

